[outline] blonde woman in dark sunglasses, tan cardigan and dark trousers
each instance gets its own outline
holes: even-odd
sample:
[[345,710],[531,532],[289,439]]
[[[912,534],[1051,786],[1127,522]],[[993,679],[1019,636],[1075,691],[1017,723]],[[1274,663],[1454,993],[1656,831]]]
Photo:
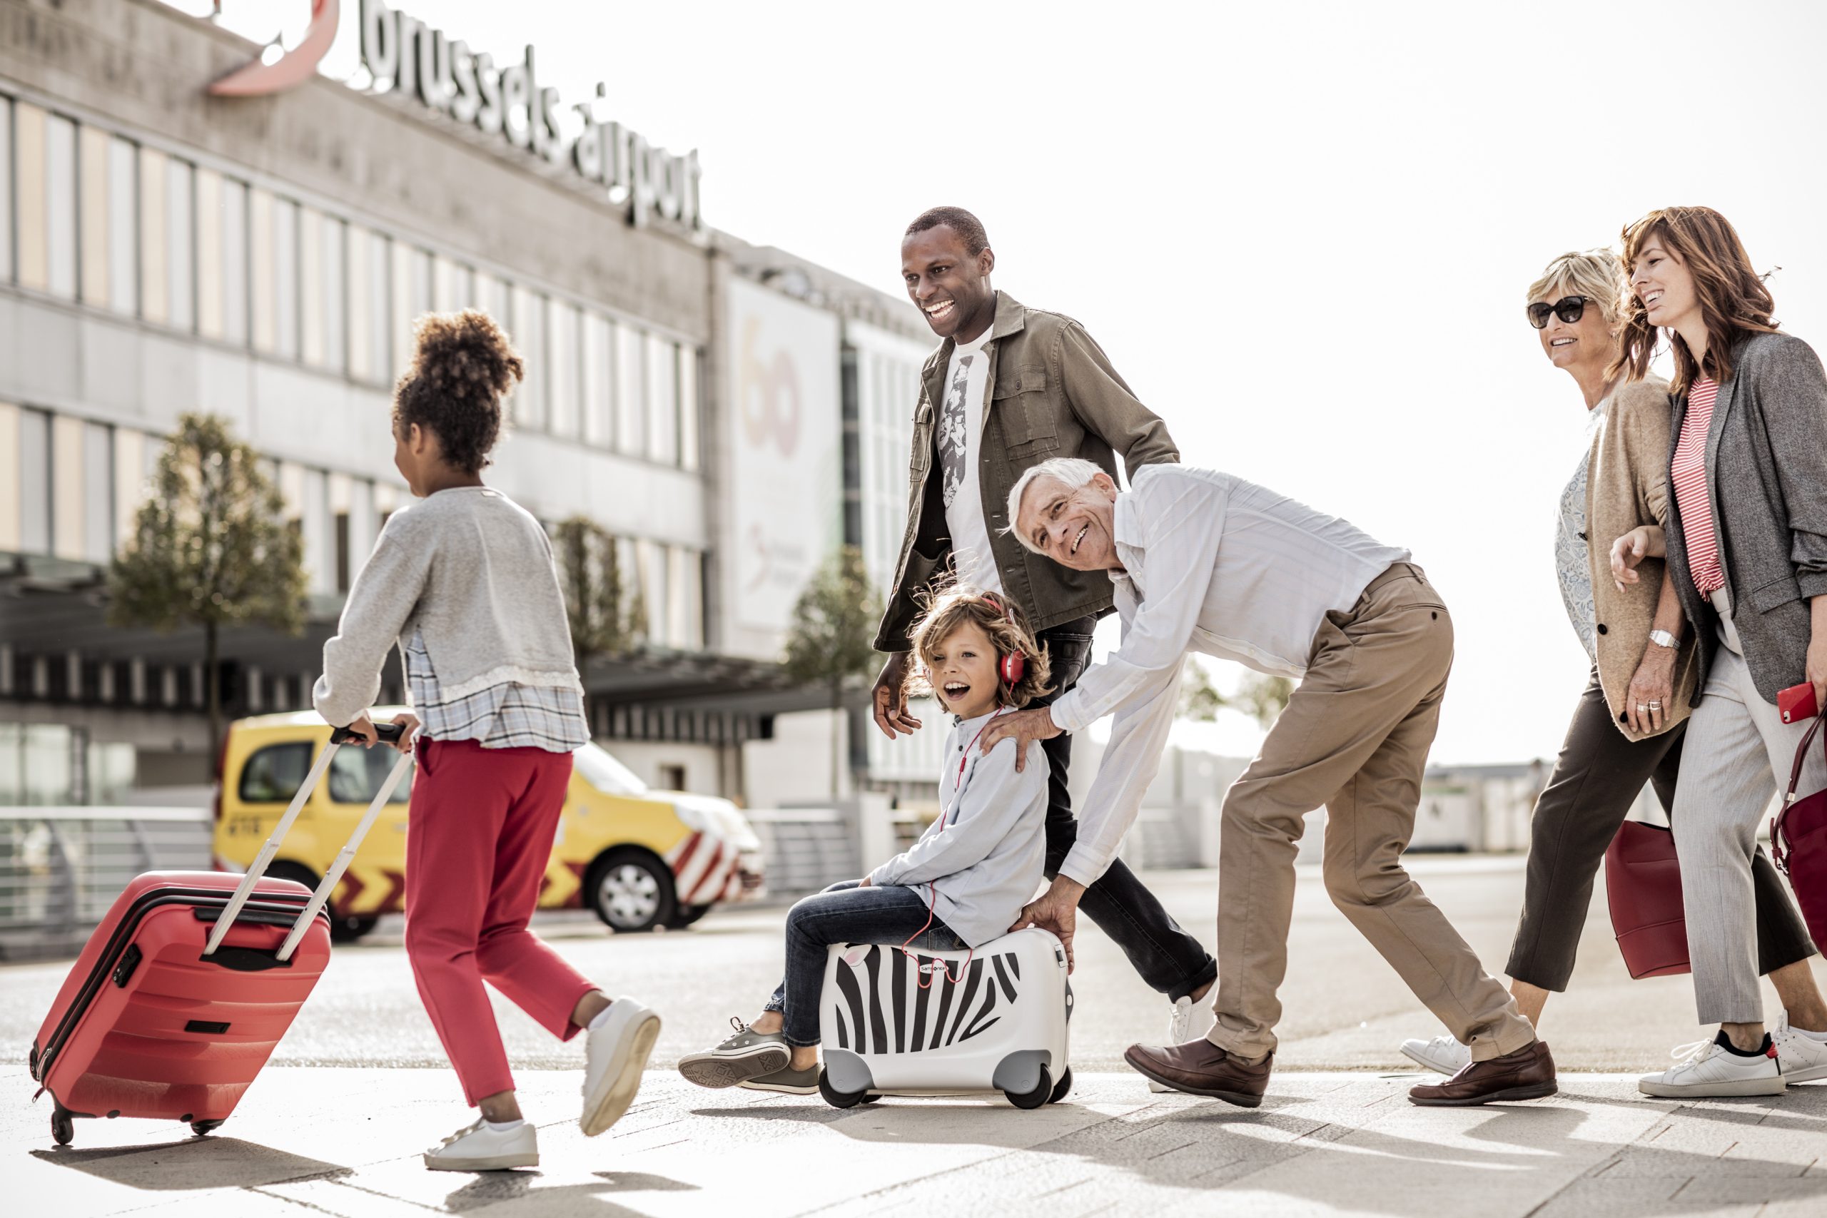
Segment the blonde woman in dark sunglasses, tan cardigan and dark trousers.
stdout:
[[[1648,579],[1628,584],[1610,570],[1613,537],[1668,519],[1668,382],[1653,373],[1624,380],[1611,367],[1624,292],[1617,256],[1582,250],[1547,263],[1526,305],[1542,354],[1573,378],[1586,409],[1580,455],[1558,502],[1555,566],[1568,621],[1591,661],[1555,772],[1535,802],[1522,920],[1505,968],[1516,1008],[1537,1028],[1547,995],[1573,977],[1593,877],[1642,783],[1674,811],[1695,688],[1695,650],[1679,639],[1683,612],[1664,564],[1650,559],[1639,572]],[[1758,968],[1803,1026],[1827,1024],[1807,964],[1814,944],[1761,849],[1752,878]],[[1452,1035],[1405,1041],[1401,1052],[1442,1074],[1471,1063]],[[1827,1045],[1818,1052],[1827,1074]]]

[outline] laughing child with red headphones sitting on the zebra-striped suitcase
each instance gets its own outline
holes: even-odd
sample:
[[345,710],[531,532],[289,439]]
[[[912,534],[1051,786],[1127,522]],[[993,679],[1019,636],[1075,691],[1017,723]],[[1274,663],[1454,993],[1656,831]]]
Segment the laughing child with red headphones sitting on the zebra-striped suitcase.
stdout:
[[[809,1096],[818,1090],[818,992],[831,944],[895,944],[928,951],[981,948],[1009,933],[1041,880],[1047,853],[1047,765],[1040,743],[1016,769],[1014,741],[977,751],[983,729],[1047,692],[1047,654],[1021,610],[999,595],[954,588],[914,628],[914,654],[952,714],[939,772],[939,818],[921,840],[861,880],[833,884],[787,913],[786,979],[755,1023],[680,1059],[700,1087]],[[924,690],[919,690],[924,692]],[[934,984],[948,984],[939,971]]]

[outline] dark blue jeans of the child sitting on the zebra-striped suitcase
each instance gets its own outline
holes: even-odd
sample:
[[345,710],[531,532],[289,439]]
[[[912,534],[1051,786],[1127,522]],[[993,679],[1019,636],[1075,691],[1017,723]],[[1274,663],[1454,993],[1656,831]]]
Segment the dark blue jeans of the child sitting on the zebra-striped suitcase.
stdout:
[[[787,911],[787,975],[762,1010],[786,1019],[787,1045],[806,1048],[818,1043],[818,992],[824,990],[824,964],[835,942],[903,944],[926,926],[926,886],[861,887],[861,880],[833,884],[822,893],[802,897]],[[963,951],[965,940],[941,919],[912,948],[926,951]]]

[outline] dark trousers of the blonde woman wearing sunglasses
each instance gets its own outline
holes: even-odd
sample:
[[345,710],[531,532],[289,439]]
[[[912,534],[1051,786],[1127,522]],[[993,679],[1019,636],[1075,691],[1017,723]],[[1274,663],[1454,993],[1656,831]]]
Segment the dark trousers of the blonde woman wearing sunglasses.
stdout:
[[[1555,993],[1568,988],[1599,862],[1644,782],[1655,787],[1664,813],[1675,807],[1684,732],[1686,723],[1681,723],[1648,740],[1626,738],[1611,721],[1593,670],[1555,772],[1535,802],[1522,924],[1509,950],[1511,977]],[[1761,845],[1750,877],[1758,897],[1758,971],[1770,973],[1814,955],[1809,929]]]

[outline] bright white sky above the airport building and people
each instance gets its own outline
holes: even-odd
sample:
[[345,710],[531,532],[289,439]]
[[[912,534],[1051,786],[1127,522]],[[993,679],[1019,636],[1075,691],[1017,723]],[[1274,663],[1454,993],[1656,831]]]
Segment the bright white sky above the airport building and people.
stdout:
[[[225,7],[289,42],[309,11]],[[1522,316],[1542,265],[1705,203],[1827,345],[1807,0],[398,7],[497,62],[533,44],[566,106],[607,80],[603,117],[700,150],[709,223],[882,290],[908,219],[974,210],[996,285],[1083,321],[1184,460],[1427,566],[1458,628],[1443,763],[1551,758],[1586,681],[1553,575],[1584,404]]]

